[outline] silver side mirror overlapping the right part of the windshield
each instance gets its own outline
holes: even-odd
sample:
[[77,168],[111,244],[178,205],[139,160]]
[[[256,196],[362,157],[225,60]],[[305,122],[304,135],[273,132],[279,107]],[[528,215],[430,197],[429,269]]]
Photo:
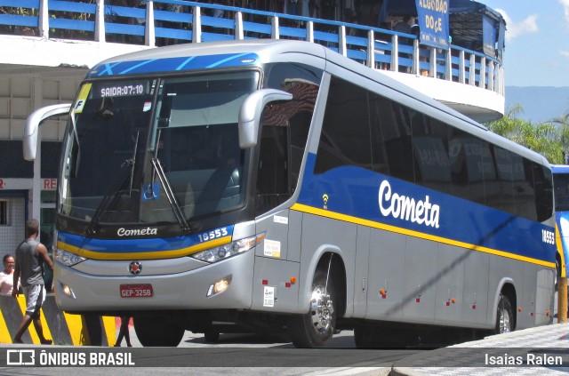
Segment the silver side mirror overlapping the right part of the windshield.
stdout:
[[239,148],[257,145],[260,114],[268,102],[292,99],[293,94],[276,89],[261,89],[245,98],[239,109]]

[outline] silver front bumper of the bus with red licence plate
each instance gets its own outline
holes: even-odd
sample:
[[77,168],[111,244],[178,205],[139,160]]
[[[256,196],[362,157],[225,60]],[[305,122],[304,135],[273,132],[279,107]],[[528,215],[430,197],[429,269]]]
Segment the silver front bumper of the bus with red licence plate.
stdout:
[[[75,267],[58,263],[54,271],[58,306],[68,312],[251,308],[254,249],[213,264],[190,257],[141,260],[136,276],[129,272],[131,262],[85,260]],[[214,293],[216,283],[228,283],[227,289]],[[144,293],[124,292],[137,289]]]

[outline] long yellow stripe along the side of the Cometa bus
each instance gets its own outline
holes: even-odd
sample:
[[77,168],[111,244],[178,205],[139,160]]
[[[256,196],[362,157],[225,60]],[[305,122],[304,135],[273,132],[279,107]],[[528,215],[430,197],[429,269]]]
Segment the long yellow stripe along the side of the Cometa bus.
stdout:
[[438,243],[442,243],[442,244],[454,245],[454,246],[466,248],[466,249],[469,249],[472,251],[490,253],[490,254],[493,254],[496,256],[506,257],[506,258],[514,259],[514,260],[525,261],[525,262],[529,262],[532,264],[541,265],[541,266],[544,266],[547,268],[555,268],[554,262],[548,262],[548,261],[533,259],[532,257],[526,257],[526,256],[521,256],[521,255],[510,253],[510,252],[499,251],[499,250],[495,250],[493,248],[483,247],[481,245],[459,242],[457,240],[448,239],[448,238],[442,237],[442,236],[434,236],[434,235],[424,234],[424,233],[421,233],[419,231],[410,230],[408,228],[398,228],[396,226],[387,225],[385,223],[374,222],[373,220],[363,220],[361,218],[353,217],[351,215],[341,214],[339,212],[330,212],[330,211],[327,211],[325,209],[319,209],[319,208],[315,208],[313,206],[309,206],[309,205],[305,205],[305,204],[293,204],[293,206],[291,207],[291,210],[296,211],[296,212],[307,212],[309,214],[314,214],[314,215],[318,215],[321,217],[330,218],[333,220],[342,220],[344,222],[355,223],[357,225],[363,225],[363,226],[367,226],[370,228],[378,228],[378,229],[382,229],[382,230],[386,230],[389,232],[394,232],[394,233],[402,234],[402,235],[406,235],[406,236],[419,237],[421,239],[431,240],[433,242],[438,242]]

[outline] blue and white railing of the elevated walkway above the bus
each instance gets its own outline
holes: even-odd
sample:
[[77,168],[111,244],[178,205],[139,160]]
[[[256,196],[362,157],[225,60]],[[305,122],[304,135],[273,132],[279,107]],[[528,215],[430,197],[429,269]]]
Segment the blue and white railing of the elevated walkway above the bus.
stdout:
[[[133,6],[132,4],[138,5]],[[367,67],[469,84],[504,95],[493,56],[349,22],[180,0],[0,0],[0,34],[162,46],[256,38],[323,44]]]

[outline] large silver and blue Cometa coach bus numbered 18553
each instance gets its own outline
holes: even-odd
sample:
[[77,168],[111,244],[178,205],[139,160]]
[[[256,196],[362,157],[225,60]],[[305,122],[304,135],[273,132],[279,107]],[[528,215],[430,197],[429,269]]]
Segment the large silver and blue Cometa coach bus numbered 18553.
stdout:
[[548,162],[324,46],[102,61],[28,117],[27,159],[64,113],[55,300],[132,316],[144,346],[239,328],[401,347],[552,320]]

